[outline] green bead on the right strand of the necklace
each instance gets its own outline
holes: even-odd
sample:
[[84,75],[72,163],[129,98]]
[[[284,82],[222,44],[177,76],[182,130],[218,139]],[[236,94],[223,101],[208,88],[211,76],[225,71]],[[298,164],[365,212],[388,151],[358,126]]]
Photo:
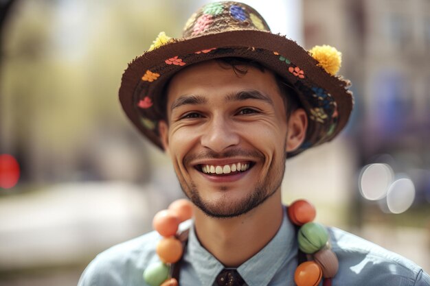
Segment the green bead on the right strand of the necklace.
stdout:
[[328,231],[322,224],[308,222],[299,229],[297,239],[300,250],[307,254],[313,254],[326,245]]

